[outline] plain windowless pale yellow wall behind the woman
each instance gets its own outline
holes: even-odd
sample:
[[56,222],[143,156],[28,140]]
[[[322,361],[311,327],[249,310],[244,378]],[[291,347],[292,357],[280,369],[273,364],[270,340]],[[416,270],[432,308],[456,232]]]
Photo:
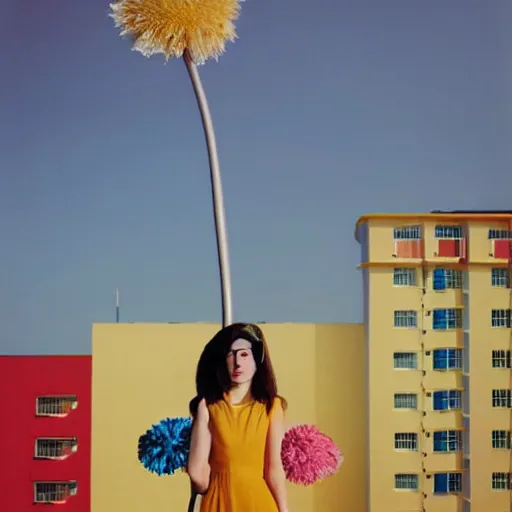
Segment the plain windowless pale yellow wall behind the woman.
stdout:
[[[288,422],[315,423],[345,453],[340,473],[289,486],[294,512],[366,509],[364,336],[361,325],[265,324]],[[213,324],[93,326],[92,512],[186,510],[188,478],[157,477],[137,460],[138,437],[188,414],[195,366]]]

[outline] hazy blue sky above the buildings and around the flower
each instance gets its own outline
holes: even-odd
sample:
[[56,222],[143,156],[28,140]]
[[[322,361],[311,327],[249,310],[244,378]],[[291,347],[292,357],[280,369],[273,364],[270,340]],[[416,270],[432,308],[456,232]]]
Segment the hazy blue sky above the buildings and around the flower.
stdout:
[[[99,0],[1,0],[0,353],[91,324],[220,321],[208,161],[183,62]],[[507,0],[248,0],[201,67],[235,317],[361,321],[365,212],[510,208]]]

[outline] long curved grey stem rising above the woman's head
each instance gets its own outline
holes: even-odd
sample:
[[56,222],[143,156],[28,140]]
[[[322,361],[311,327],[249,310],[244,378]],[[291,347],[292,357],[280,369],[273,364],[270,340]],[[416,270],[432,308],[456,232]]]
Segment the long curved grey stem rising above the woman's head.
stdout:
[[217,143],[215,141],[215,132],[213,129],[212,116],[208,101],[204,92],[201,78],[197,67],[185,50],[183,60],[187,67],[197,104],[203,121],[203,129],[206,137],[206,146],[208,148],[208,158],[210,160],[210,178],[212,184],[213,214],[215,219],[215,234],[217,237],[217,253],[219,258],[220,285],[222,292],[222,326],[226,327],[233,323],[233,305],[231,297],[231,269],[229,266],[228,234],[226,228],[226,212],[224,209],[224,196],[222,193],[222,181],[220,175],[219,156],[217,153]]

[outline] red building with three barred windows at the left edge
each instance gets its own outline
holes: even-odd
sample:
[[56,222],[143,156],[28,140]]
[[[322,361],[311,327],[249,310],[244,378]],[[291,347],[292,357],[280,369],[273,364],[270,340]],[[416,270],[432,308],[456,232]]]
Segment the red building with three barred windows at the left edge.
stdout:
[[91,370],[91,356],[0,356],[0,510],[90,512]]

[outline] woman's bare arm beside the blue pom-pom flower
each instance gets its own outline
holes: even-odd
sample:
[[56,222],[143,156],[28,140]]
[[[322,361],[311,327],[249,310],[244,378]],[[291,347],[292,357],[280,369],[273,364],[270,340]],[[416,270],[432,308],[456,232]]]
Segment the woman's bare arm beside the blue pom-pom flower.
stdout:
[[199,402],[192,426],[190,453],[187,464],[188,476],[192,486],[199,494],[204,494],[210,485],[210,464],[208,460],[212,446],[212,435],[208,427],[209,421],[210,414],[203,399]]

